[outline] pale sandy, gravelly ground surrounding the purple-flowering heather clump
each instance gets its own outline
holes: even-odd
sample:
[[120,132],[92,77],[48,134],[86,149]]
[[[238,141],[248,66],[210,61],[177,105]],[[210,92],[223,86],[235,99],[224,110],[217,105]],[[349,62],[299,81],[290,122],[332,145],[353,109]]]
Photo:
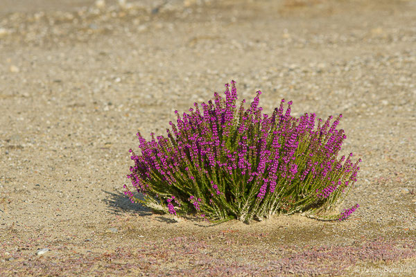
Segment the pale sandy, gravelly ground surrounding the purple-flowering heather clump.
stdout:
[[[416,1],[127,4],[2,0],[0,276],[412,276]],[[269,114],[343,113],[363,159],[351,219],[210,226],[130,204],[136,132],[230,80]]]

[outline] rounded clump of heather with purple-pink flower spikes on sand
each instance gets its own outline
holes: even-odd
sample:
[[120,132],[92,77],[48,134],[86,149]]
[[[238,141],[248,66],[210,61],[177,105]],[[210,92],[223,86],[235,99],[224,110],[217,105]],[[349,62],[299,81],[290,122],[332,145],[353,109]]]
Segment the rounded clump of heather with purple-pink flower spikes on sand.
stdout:
[[[248,109],[236,106],[235,82],[225,99],[214,99],[170,122],[167,137],[137,133],[141,155],[132,150],[127,177],[144,200],[125,188],[132,202],[175,215],[196,213],[214,222],[250,222],[276,213],[323,215],[354,186],[359,159],[338,158],[342,118],[323,122],[315,114],[291,116],[292,101],[281,100],[272,115],[262,113],[257,91]],[[354,209],[330,220],[344,220]],[[323,217],[322,217],[323,218]],[[328,219],[328,218],[327,218]]]

